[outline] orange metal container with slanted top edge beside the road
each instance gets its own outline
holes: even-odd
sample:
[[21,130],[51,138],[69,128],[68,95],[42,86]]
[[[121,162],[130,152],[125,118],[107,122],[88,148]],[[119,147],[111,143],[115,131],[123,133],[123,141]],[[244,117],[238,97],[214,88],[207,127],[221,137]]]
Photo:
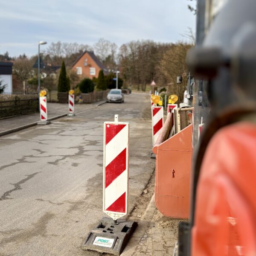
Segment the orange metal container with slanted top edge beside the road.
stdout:
[[169,114],[153,148],[156,154],[155,204],[167,217],[188,218],[192,125],[163,141],[171,125],[172,114]]

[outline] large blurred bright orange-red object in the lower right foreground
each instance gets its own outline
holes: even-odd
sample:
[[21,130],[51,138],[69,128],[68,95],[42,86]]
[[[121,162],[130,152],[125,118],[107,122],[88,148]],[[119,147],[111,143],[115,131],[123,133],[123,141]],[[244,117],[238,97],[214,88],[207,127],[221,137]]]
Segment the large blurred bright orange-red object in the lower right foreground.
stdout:
[[256,126],[218,131],[201,166],[192,229],[193,256],[256,255]]

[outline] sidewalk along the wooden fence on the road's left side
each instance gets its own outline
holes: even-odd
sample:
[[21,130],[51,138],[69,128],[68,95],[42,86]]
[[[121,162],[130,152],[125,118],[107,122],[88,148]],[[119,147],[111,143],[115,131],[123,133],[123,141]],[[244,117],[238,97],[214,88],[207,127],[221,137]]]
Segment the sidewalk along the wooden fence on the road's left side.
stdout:
[[[76,104],[75,113],[96,108],[97,106],[102,105],[105,102],[106,101],[103,100],[92,104]],[[68,104],[47,103],[47,112],[49,121],[60,118],[62,116],[66,116],[68,113]],[[0,136],[37,125],[39,121],[39,112],[0,119]]]

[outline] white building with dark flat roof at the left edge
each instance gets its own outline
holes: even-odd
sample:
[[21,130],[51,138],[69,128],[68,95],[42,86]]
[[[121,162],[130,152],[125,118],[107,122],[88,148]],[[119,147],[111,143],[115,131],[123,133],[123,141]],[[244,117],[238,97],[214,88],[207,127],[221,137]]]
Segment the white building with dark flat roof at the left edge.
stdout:
[[0,62],[0,81],[6,84],[4,93],[12,93],[12,62]]

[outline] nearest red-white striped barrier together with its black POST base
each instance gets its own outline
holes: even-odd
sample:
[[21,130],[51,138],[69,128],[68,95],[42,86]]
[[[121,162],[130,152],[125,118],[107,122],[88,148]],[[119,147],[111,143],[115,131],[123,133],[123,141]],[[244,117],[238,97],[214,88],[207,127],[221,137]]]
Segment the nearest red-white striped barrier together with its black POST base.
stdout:
[[103,212],[104,217],[82,244],[83,250],[120,255],[137,222],[126,221],[128,210],[129,123],[104,122]]

